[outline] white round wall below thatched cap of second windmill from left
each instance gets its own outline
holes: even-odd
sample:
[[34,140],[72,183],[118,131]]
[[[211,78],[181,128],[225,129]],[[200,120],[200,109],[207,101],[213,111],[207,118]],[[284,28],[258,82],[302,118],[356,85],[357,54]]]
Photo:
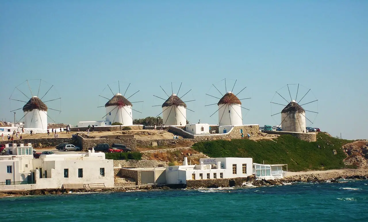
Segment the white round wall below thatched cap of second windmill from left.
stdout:
[[106,116],[106,121],[111,122],[111,124],[114,122],[119,122],[123,125],[133,125],[131,106],[107,106],[106,113],[109,113]]

